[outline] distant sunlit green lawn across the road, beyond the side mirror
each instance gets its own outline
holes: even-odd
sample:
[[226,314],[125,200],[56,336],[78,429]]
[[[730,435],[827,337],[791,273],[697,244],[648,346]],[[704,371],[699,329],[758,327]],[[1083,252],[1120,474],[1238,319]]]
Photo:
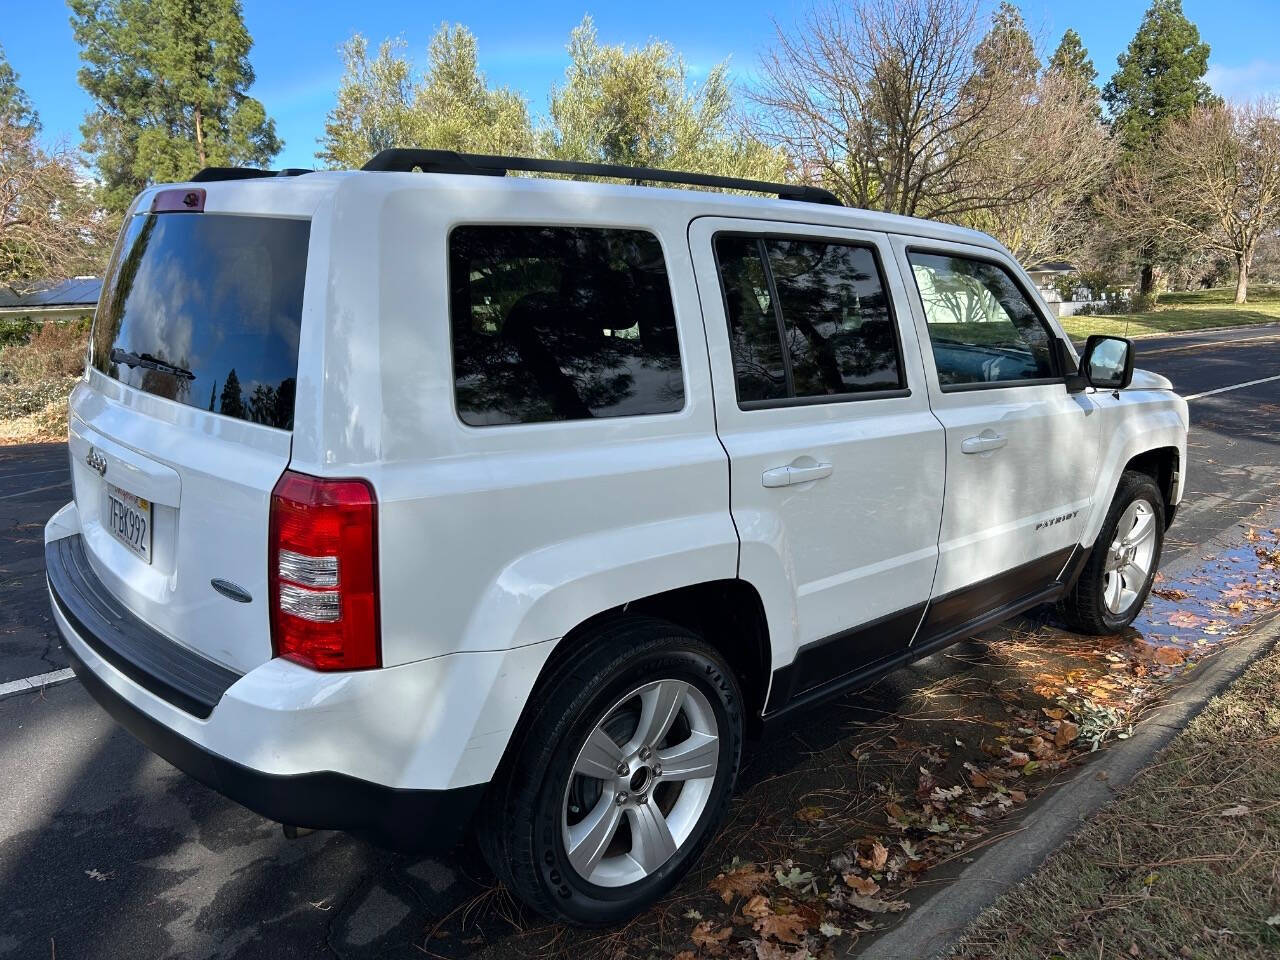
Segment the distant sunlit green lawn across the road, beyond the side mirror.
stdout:
[[1235,287],[1165,293],[1160,297],[1160,305],[1147,314],[1066,316],[1060,323],[1069,335],[1083,339],[1091,333],[1143,337],[1280,321],[1280,285],[1253,284],[1249,287],[1248,303],[1233,303],[1234,297]]

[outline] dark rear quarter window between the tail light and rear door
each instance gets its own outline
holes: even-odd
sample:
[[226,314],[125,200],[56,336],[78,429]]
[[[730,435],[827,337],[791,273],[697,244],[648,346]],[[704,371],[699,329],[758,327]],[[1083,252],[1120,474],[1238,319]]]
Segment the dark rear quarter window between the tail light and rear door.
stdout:
[[672,413],[685,404],[671,284],[644,230],[456,227],[449,320],[472,426]]

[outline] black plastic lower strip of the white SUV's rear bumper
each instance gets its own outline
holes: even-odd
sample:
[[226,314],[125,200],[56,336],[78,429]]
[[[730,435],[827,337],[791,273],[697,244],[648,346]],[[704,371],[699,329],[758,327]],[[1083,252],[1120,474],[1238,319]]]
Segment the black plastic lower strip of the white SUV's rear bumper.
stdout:
[[90,695],[155,754],[253,813],[280,823],[340,829],[401,850],[444,851],[466,831],[485,785],[398,790],[330,771],[271,774],[206,750],[120,696],[63,644]]

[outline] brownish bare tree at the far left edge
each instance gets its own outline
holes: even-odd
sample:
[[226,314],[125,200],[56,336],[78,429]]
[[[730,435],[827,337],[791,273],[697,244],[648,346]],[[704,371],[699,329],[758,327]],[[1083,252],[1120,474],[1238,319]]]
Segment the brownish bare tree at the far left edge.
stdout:
[[72,155],[41,148],[36,136],[0,118],[0,283],[15,289],[100,269],[110,250]]

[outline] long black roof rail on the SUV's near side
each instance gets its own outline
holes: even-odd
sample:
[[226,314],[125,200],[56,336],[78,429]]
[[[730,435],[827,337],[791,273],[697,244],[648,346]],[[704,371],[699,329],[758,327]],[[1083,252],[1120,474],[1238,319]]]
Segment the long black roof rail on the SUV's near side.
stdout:
[[844,206],[835,193],[822,187],[795,183],[749,180],[742,177],[719,177],[710,173],[682,173],[659,170],[652,166],[625,166],[622,164],[590,164],[576,160],[547,160],[531,156],[490,156],[485,154],[458,154],[453,150],[419,150],[394,147],[383,150],[365,164],[362,170],[390,170],[408,173],[463,173],[480,177],[506,177],[511,170],[524,173],[558,173],[576,177],[605,177],[640,183],[682,183],[690,187],[741,189],[751,193],[773,193],[781,200],[800,200],[810,204]]

